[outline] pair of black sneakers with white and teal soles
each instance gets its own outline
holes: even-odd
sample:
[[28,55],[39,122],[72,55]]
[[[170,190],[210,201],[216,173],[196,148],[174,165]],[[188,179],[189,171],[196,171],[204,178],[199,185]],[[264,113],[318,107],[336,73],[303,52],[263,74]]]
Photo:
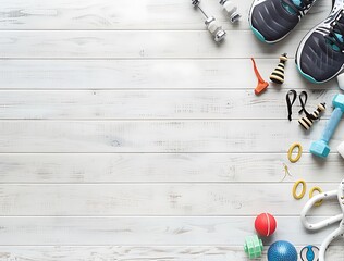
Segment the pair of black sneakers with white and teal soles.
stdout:
[[[286,37],[317,0],[255,0],[248,15],[255,35],[274,44]],[[331,1],[331,0],[324,0]],[[312,83],[325,83],[344,69],[344,0],[332,0],[329,16],[300,41],[295,62]]]

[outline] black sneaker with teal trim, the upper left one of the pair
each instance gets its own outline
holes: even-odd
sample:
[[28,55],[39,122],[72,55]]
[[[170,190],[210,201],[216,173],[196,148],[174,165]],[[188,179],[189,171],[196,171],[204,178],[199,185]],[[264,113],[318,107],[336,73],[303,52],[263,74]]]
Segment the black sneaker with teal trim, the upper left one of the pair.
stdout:
[[248,22],[261,41],[282,40],[309,11],[316,0],[255,0]]

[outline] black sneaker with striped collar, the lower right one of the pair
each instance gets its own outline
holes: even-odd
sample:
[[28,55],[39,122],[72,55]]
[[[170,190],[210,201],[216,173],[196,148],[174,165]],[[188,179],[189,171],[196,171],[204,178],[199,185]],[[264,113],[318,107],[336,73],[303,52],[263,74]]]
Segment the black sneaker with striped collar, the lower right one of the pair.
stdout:
[[297,48],[298,71],[312,83],[325,83],[343,71],[344,0],[333,0],[330,15],[312,28]]

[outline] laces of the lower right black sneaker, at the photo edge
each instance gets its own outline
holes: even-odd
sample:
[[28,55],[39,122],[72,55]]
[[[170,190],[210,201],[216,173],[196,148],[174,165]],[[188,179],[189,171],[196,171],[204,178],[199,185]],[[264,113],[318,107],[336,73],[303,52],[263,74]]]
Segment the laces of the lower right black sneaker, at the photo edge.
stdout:
[[325,39],[333,50],[344,52],[344,10],[339,13],[330,25],[330,33],[325,36]]

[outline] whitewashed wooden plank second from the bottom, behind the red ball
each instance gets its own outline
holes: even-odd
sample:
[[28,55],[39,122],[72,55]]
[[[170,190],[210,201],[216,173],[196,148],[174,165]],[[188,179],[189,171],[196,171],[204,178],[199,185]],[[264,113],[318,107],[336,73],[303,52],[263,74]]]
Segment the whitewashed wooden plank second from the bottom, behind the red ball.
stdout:
[[[317,222],[324,219],[311,219]],[[253,216],[11,216],[1,217],[2,246],[235,246],[251,235]],[[331,227],[307,233],[298,216],[280,216],[277,238],[303,245],[311,238],[319,245]],[[293,224],[293,229],[291,229]],[[342,246],[343,240],[334,241]],[[241,250],[239,250],[241,251]],[[242,253],[238,253],[243,256]],[[157,258],[158,259],[158,258]],[[245,259],[244,259],[245,260]]]

